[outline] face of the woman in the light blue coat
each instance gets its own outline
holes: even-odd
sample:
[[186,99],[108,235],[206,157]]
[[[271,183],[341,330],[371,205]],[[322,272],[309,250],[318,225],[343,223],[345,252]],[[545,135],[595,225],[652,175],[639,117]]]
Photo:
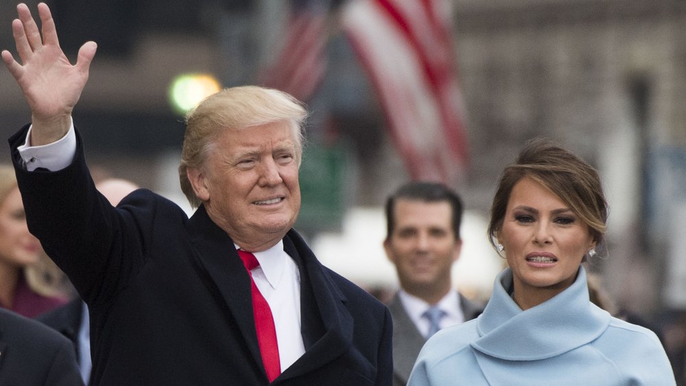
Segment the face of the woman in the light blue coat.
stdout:
[[528,177],[510,192],[498,238],[520,306],[522,299],[543,302],[571,286],[584,254],[595,247],[589,227],[576,213]]

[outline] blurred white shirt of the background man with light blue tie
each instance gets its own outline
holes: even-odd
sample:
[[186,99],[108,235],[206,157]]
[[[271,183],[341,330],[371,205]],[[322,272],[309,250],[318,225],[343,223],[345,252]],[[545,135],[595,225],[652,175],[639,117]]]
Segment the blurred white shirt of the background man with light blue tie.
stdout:
[[[400,302],[405,307],[407,315],[410,320],[417,326],[417,330],[426,337],[429,332],[429,319],[423,317],[423,313],[429,309],[432,304],[425,302],[414,295],[406,293],[402,289],[398,291]],[[440,319],[440,328],[454,326],[464,322],[464,313],[460,308],[460,297],[458,291],[451,290],[444,297],[442,297],[436,306],[445,312],[445,316]]]

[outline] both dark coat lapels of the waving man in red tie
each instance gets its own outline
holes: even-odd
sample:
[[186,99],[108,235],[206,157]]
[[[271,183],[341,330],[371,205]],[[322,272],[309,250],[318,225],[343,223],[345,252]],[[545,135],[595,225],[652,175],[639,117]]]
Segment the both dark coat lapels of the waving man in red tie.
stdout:
[[[191,242],[195,247],[196,264],[207,281],[222,295],[222,299],[243,334],[250,354],[261,365],[255,320],[252,315],[250,276],[246,272],[233,240],[207,216],[202,205],[187,223]],[[293,365],[277,378],[283,381],[311,372],[344,354],[353,342],[353,317],[348,312],[346,297],[333,282],[324,266],[307,247],[305,241],[291,230],[283,239],[284,250],[302,264],[301,275],[311,286],[314,304],[302,304],[301,313],[319,313],[323,325],[322,336],[314,341]]]

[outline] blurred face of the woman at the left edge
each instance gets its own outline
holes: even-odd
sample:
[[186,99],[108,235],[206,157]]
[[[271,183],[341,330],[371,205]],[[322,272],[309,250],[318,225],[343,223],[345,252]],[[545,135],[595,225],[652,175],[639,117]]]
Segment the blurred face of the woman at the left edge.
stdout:
[[19,188],[14,188],[0,203],[0,263],[26,266],[38,262],[40,242],[26,226]]

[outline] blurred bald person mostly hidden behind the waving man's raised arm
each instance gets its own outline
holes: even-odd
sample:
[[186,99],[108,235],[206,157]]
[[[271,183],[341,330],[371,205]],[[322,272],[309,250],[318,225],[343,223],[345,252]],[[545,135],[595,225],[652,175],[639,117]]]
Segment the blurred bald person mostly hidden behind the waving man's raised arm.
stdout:
[[[119,201],[134,190],[137,190],[139,186],[125,179],[108,178],[96,183],[95,188],[112,205],[116,206],[119,204]],[[77,297],[71,302],[64,304],[64,306],[40,315],[36,319],[46,326],[57,330],[73,343],[81,378],[88,385],[93,362],[91,360],[90,318],[86,302]]]

